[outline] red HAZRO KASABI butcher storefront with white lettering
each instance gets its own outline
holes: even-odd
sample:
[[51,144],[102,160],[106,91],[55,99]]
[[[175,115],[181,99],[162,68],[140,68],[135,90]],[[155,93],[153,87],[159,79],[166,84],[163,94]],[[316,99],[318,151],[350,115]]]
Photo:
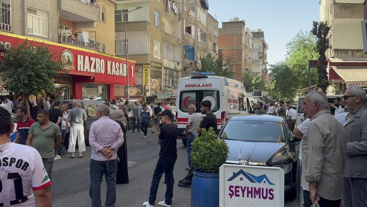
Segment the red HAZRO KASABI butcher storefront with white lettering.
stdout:
[[[54,92],[62,99],[105,100],[122,97],[115,96],[115,85],[127,85],[126,59],[72,45],[0,32],[0,44],[22,44],[25,39],[34,45],[48,47],[66,64],[68,73],[60,74],[54,80]],[[135,61],[132,60],[129,60],[129,84],[135,87]]]

